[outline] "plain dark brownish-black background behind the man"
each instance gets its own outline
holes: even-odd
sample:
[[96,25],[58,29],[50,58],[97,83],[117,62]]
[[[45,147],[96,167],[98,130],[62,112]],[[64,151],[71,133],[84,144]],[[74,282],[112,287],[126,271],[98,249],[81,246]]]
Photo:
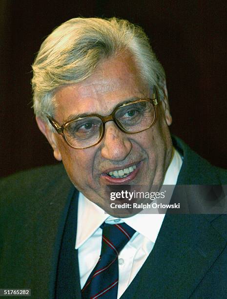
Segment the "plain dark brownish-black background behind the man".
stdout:
[[57,163],[31,109],[31,64],[43,38],[73,17],[140,24],[163,64],[171,132],[227,168],[226,1],[0,0],[0,175]]

